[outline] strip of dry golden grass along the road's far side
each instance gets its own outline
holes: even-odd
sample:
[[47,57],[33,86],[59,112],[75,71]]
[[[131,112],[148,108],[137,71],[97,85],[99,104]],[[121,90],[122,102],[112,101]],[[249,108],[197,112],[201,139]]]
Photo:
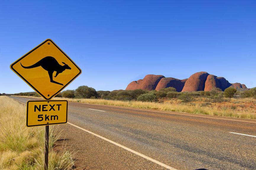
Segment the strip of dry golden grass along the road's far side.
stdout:
[[164,100],[163,103],[139,102],[139,101],[119,101],[105,99],[70,99],[54,97],[54,99],[68,100],[70,102],[81,102],[91,104],[104,104],[111,106],[124,106],[141,109],[157,109],[173,112],[185,112],[204,115],[218,115],[227,117],[238,117],[247,119],[256,119],[256,99],[228,99],[224,102],[215,103],[206,97],[197,97],[189,103],[182,103],[179,99]]

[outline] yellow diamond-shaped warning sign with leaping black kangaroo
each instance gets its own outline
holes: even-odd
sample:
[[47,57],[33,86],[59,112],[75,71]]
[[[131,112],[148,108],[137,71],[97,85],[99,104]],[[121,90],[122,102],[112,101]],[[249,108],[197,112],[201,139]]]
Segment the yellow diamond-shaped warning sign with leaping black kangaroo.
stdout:
[[62,91],[81,73],[81,69],[50,39],[10,67],[46,100]]

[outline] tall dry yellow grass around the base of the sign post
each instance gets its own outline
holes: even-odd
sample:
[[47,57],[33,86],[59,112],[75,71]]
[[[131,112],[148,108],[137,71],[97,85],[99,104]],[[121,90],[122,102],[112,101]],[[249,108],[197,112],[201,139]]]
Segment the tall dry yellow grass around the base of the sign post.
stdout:
[[[28,128],[26,108],[9,97],[0,96],[0,169],[41,170],[44,160],[44,128]],[[50,126],[49,170],[68,170],[74,165],[71,154],[53,151],[57,126]]]

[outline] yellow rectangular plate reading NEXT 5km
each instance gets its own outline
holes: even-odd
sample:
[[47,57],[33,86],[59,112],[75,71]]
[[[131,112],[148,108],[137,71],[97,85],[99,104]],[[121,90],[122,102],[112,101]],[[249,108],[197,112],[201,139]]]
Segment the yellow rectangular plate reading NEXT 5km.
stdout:
[[67,123],[67,100],[30,100],[27,102],[27,126]]

